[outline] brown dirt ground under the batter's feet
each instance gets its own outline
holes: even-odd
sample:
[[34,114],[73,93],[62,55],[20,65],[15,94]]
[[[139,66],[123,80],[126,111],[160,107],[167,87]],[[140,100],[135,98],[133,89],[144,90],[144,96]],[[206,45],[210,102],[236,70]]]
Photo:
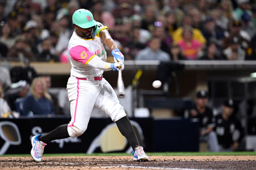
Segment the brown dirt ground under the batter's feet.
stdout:
[[35,162],[31,157],[0,157],[0,169],[232,169],[255,170],[256,156],[150,156],[148,162],[137,162],[132,156],[72,156],[48,157]]

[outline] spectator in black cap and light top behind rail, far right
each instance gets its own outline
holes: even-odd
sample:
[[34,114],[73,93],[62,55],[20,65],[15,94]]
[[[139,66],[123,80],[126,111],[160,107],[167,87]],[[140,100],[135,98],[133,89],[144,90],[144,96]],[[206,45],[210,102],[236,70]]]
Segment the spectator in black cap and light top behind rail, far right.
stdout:
[[244,60],[246,51],[241,48],[241,38],[233,36],[229,39],[228,47],[223,50],[223,54],[227,60]]

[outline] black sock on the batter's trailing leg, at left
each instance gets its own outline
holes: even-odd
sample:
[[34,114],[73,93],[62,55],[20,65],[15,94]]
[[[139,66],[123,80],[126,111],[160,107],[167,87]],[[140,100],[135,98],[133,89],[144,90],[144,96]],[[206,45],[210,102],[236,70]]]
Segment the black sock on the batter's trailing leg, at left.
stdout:
[[65,139],[68,137],[69,137],[68,124],[64,124],[64,125],[57,127],[56,129],[52,130],[51,132],[41,135],[37,138],[39,141],[42,141],[47,144],[48,142],[50,142],[52,140]]

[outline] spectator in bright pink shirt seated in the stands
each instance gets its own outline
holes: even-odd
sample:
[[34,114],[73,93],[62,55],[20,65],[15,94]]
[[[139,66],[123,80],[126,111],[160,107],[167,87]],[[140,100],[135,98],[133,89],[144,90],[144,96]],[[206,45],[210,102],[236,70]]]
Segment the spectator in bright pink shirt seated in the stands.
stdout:
[[191,26],[184,26],[182,32],[182,40],[178,41],[183,56],[187,60],[196,60],[202,53],[203,44],[193,39]]

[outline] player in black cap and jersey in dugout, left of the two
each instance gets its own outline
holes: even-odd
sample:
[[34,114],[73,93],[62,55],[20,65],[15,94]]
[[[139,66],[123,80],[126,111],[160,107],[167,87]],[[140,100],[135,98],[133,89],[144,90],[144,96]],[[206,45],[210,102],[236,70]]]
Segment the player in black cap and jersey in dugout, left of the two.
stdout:
[[207,142],[210,152],[218,151],[218,141],[213,131],[215,124],[213,120],[212,109],[207,106],[208,94],[205,90],[196,93],[194,106],[188,111],[189,118],[199,121],[200,142]]

